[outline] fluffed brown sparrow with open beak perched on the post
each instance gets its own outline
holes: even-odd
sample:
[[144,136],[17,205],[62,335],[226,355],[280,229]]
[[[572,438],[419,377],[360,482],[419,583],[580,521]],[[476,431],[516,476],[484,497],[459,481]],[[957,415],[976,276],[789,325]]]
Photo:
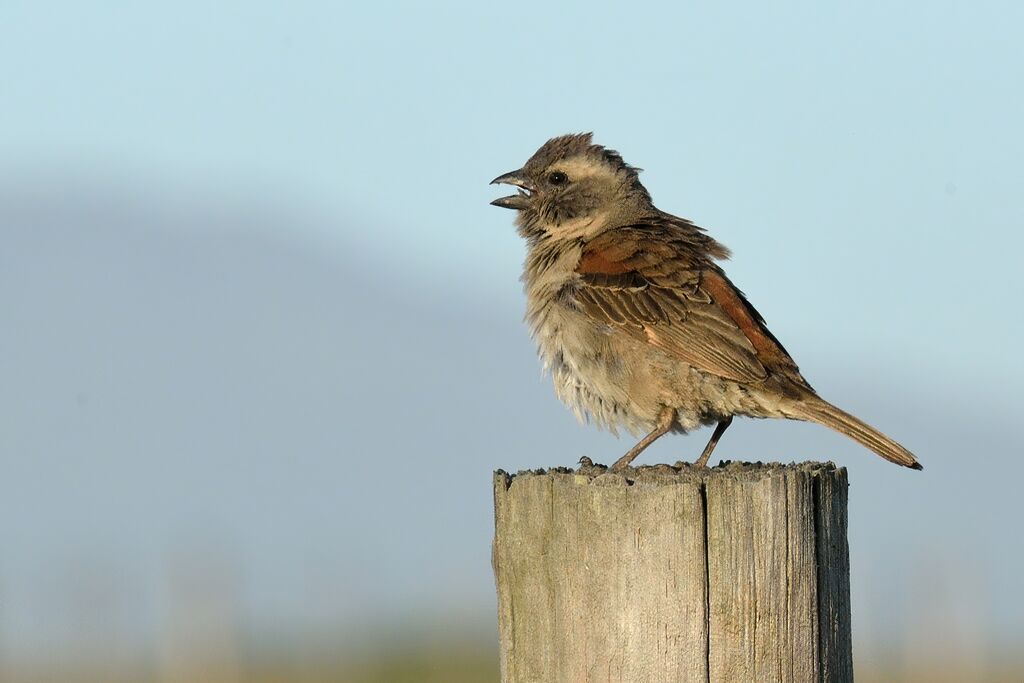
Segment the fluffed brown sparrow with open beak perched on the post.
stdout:
[[923,469],[905,447],[821,398],[726,275],[729,250],[657,209],[640,169],[592,133],[554,137],[492,184],[526,244],[525,322],[555,393],[581,421],[637,443],[715,426],[706,467],[736,416],[813,422],[882,458]]

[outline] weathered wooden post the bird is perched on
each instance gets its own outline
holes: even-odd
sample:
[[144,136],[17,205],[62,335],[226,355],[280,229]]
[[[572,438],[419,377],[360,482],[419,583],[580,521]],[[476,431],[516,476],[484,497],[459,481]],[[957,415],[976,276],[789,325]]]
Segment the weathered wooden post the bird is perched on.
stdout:
[[495,473],[503,683],[853,680],[846,469]]

